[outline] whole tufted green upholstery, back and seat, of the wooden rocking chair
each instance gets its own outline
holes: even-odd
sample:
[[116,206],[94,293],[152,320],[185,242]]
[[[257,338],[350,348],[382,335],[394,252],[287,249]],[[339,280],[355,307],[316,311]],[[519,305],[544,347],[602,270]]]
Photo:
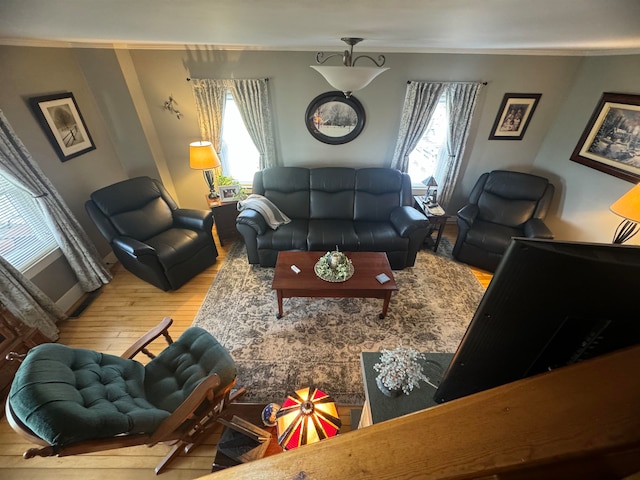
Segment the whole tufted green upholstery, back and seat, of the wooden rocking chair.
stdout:
[[192,327],[143,366],[59,344],[31,349],[9,393],[13,413],[51,445],[152,433],[207,375],[235,378],[228,352]]

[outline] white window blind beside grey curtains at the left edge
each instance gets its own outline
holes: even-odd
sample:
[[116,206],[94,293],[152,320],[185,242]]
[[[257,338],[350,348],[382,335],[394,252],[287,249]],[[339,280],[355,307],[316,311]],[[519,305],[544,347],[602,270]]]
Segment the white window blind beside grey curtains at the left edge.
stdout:
[[0,255],[24,272],[56,248],[36,200],[0,174]]

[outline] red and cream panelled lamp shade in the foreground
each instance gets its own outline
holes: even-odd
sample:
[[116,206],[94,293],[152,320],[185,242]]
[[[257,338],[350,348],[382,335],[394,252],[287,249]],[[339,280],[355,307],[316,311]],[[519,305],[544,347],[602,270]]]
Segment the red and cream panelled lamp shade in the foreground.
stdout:
[[333,437],[342,426],[333,398],[314,387],[289,395],[276,421],[278,443],[285,450]]

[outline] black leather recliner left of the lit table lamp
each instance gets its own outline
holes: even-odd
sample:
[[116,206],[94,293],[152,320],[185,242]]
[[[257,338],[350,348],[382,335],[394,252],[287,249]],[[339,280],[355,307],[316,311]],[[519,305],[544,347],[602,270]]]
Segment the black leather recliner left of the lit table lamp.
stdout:
[[164,291],[178,289],[218,256],[211,211],[178,208],[158,180],[135,177],[104,187],[85,208],[122,265]]

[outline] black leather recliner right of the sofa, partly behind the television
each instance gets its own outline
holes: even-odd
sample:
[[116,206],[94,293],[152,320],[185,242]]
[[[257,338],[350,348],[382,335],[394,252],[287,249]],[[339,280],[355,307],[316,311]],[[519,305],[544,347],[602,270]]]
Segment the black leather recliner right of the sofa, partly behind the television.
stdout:
[[453,257],[494,272],[511,238],[553,238],[544,224],[554,187],[537,175],[506,170],[484,173],[458,211]]

